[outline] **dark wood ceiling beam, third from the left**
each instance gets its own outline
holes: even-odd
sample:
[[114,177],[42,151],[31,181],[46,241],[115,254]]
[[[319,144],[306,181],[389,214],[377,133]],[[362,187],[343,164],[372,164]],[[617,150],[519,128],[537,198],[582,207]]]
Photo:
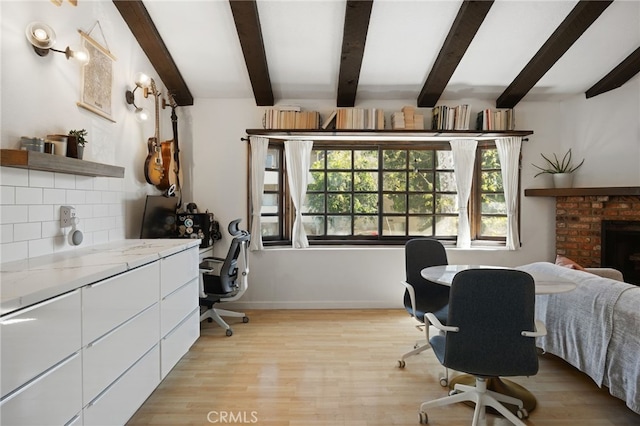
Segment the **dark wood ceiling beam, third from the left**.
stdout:
[[348,0],[345,6],[336,101],[338,107],[353,107],[356,103],[372,7],[373,0]]

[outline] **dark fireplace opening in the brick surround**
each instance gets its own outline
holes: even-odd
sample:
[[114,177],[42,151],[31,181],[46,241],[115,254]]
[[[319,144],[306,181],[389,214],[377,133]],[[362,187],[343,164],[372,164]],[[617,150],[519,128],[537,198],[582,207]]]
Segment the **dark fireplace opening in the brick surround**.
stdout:
[[640,285],[640,221],[602,221],[601,265],[622,272],[628,283]]

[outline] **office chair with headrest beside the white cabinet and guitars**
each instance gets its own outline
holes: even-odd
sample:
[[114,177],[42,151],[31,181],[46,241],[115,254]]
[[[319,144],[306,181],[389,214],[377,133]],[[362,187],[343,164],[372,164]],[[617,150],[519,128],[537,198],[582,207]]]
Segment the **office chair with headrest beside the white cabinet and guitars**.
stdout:
[[[249,322],[243,312],[228,311],[216,308],[214,305],[222,302],[238,300],[249,286],[249,257],[247,248],[251,241],[251,234],[238,228],[242,219],[236,219],[229,224],[229,234],[233,236],[226,258],[205,257],[200,264],[200,321],[215,321],[226,330],[227,336],[233,334],[231,326],[222,317],[242,318],[242,322]],[[241,258],[242,271],[238,277],[238,258]]]

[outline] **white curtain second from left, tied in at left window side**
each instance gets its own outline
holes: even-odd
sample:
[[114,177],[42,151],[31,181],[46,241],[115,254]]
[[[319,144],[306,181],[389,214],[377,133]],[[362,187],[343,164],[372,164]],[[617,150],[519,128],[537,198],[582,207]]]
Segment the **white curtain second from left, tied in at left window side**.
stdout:
[[291,189],[291,200],[296,208],[296,219],[293,222],[293,248],[309,247],[307,233],[302,224],[302,207],[307,184],[309,183],[309,167],[311,166],[311,148],[313,141],[285,141],[284,155],[287,162],[287,177]]

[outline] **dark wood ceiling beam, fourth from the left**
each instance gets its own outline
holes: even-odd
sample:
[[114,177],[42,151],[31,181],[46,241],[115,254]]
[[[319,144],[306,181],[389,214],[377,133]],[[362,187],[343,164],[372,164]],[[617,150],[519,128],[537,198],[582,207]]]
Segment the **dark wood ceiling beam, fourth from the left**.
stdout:
[[491,6],[493,6],[493,0],[465,0],[462,3],[427,81],[420,91],[417,101],[419,107],[429,108],[436,105]]

